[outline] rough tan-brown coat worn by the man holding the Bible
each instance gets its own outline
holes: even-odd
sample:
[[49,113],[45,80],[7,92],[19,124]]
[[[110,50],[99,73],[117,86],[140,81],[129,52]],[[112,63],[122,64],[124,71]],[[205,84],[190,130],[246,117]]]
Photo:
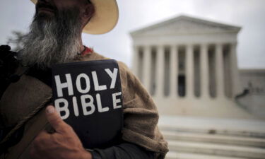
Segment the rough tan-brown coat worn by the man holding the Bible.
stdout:
[[[78,61],[107,59],[93,53],[81,57]],[[156,158],[165,158],[167,142],[158,130],[158,110],[150,95],[131,71],[122,62],[118,62],[122,82],[124,127],[122,139],[135,143],[148,151],[156,152]],[[52,95],[52,90],[41,81],[22,76],[18,83],[8,87],[0,101],[0,121],[3,126],[14,126],[25,115],[35,110],[46,98]],[[37,132],[45,128],[47,120],[42,112],[30,120],[25,126],[23,139],[13,148],[9,148],[7,159],[29,158],[30,142]],[[26,141],[26,142],[25,142]],[[13,154],[13,150],[20,150]],[[1,158],[1,157],[0,157]]]

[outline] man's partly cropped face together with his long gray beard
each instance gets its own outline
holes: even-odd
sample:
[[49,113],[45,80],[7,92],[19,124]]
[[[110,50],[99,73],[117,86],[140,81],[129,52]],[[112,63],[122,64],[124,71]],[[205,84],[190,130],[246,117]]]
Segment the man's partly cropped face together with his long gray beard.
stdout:
[[[82,2],[86,5],[81,6]],[[87,0],[39,0],[23,39],[20,59],[28,65],[46,68],[73,60],[81,50],[81,32],[86,25]],[[85,9],[86,8],[86,9]],[[88,14],[89,15],[89,14]]]

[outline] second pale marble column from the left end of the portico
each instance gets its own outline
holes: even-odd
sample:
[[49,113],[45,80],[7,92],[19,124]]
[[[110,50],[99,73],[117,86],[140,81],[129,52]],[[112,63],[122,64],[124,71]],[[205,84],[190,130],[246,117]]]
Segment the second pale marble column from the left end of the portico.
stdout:
[[151,86],[151,46],[143,48],[143,86],[150,93]]

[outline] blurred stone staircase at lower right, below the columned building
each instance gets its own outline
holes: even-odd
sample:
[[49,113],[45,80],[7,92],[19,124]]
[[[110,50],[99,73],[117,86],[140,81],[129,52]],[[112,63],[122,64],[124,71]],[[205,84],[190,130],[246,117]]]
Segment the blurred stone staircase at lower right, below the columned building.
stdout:
[[160,124],[170,148],[166,159],[265,159],[265,127],[239,124],[235,129]]

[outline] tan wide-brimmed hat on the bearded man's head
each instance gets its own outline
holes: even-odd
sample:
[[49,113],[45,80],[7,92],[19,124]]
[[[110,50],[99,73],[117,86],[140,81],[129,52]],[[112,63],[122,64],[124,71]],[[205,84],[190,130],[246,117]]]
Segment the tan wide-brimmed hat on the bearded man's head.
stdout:
[[[34,4],[37,0],[31,0]],[[104,34],[117,24],[119,9],[116,0],[90,0],[95,7],[95,13],[83,29],[88,34]]]

